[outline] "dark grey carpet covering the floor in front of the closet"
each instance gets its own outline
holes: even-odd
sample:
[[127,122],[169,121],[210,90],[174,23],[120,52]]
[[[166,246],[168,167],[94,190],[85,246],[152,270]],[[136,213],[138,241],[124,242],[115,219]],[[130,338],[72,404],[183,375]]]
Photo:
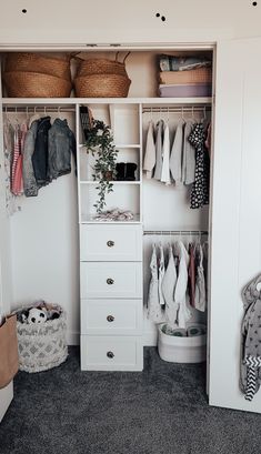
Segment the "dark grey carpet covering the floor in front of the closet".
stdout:
[[81,372],[79,349],[48,372],[19,372],[0,425],[1,454],[259,454],[261,415],[210,407],[204,365]]

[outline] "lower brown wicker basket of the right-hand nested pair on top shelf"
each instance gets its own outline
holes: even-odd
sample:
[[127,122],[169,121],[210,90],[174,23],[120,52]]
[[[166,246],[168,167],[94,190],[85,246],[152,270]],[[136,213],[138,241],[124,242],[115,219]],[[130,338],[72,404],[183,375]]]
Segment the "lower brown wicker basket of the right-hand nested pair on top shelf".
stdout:
[[131,80],[121,74],[91,74],[74,79],[78,98],[127,98]]

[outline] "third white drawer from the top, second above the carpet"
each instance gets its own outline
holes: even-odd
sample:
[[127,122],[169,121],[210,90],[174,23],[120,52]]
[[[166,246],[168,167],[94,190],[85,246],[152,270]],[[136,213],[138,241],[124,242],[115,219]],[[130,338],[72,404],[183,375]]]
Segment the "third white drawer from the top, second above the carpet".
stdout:
[[142,300],[82,300],[82,334],[142,334]]

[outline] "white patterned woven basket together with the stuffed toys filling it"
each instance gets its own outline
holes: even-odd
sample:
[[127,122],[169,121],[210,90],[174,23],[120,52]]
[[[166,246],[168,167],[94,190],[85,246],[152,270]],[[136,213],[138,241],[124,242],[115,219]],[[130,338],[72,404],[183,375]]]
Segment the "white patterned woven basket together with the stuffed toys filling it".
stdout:
[[63,363],[68,356],[63,309],[40,301],[16,312],[19,369],[41,372]]

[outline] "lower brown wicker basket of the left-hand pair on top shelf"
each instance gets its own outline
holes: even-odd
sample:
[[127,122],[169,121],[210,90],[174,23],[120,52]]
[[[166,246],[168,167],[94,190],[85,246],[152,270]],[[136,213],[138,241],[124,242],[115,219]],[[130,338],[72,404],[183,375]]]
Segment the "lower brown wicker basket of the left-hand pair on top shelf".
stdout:
[[71,82],[40,72],[4,72],[3,81],[11,98],[69,98],[71,93]]

